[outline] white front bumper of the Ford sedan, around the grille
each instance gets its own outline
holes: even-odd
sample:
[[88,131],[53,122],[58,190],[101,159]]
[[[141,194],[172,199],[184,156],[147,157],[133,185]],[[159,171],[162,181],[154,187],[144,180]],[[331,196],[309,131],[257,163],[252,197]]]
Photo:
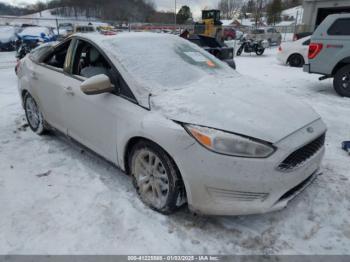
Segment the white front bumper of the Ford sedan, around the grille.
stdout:
[[247,215],[284,208],[319,174],[324,147],[298,168],[288,172],[277,168],[296,149],[326,131],[321,120],[308,127],[314,133],[305,128],[297,131],[276,143],[278,150],[266,159],[220,155],[197,142],[188,147],[177,162],[190,209],[207,215]]

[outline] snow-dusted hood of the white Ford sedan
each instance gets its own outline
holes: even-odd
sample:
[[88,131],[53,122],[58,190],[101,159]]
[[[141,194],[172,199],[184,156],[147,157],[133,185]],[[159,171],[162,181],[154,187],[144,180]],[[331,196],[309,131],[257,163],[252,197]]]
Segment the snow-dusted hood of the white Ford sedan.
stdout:
[[169,119],[276,143],[320,118],[309,106],[244,76],[208,77],[152,95],[151,110]]

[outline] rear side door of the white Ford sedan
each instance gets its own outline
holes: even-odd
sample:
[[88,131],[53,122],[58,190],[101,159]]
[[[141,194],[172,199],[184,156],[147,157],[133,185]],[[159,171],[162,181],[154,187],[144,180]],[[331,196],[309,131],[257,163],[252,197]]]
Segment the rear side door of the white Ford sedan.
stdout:
[[64,66],[71,40],[57,46],[43,61],[32,63],[30,77],[45,120],[54,128],[66,132],[62,98],[66,74]]

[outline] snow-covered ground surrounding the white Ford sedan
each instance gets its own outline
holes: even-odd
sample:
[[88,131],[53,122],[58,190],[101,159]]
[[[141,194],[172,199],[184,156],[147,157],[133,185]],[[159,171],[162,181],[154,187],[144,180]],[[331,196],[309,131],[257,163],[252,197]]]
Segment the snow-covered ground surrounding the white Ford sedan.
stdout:
[[[67,139],[26,125],[14,54],[0,53],[1,254],[350,254],[350,99],[331,80],[278,65],[275,49],[236,58],[238,71],[312,105],[327,123],[323,175],[279,212],[163,216],[129,177]],[[232,83],[234,85],[234,83]],[[276,112],[278,114],[278,112]]]

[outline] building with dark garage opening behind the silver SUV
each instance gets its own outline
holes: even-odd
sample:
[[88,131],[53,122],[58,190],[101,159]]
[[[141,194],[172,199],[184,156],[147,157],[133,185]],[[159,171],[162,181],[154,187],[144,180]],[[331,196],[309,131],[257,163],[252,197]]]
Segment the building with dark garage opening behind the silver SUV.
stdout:
[[304,0],[303,24],[312,32],[330,14],[350,13],[350,0]]

